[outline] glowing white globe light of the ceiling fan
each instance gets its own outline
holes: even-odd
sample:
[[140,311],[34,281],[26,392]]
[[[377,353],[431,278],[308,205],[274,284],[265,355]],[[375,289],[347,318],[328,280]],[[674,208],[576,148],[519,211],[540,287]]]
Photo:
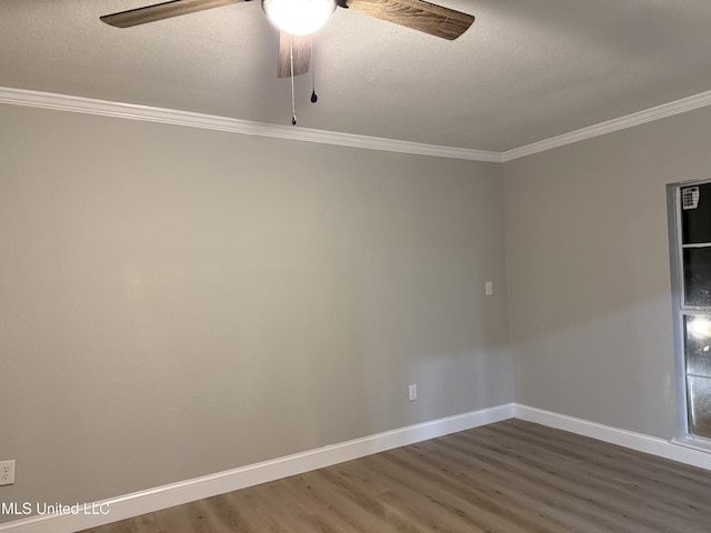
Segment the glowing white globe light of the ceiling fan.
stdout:
[[336,0],[262,0],[262,9],[280,30],[308,36],[331,18]]

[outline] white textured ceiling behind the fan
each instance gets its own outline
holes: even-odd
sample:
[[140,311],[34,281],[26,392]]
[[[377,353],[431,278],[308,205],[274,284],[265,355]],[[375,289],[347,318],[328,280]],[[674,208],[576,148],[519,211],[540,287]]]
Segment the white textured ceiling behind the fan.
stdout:
[[[709,0],[431,0],[477,17],[445,41],[338,9],[299,127],[504,152],[711,90]],[[151,0],[0,0],[0,87],[289,124],[259,1],[131,29]]]

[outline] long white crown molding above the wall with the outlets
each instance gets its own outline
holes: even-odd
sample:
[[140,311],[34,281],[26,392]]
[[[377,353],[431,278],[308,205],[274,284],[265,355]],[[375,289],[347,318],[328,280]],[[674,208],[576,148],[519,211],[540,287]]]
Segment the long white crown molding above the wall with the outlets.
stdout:
[[336,144],[339,147],[361,148],[365,150],[381,150],[387,152],[494,163],[501,162],[501,154],[499,152],[439,147],[434,144],[314,130],[293,125],[267,124],[212,114],[153,108],[149,105],[137,105],[132,103],[110,102],[106,100],[30,91],[26,89],[0,88],[0,103],[53,109],[74,113],[99,114],[103,117],[116,117],[130,120],[143,120],[147,122],[227,131],[244,135],[259,135],[274,139],[289,139],[293,141],[316,142],[321,144]]

